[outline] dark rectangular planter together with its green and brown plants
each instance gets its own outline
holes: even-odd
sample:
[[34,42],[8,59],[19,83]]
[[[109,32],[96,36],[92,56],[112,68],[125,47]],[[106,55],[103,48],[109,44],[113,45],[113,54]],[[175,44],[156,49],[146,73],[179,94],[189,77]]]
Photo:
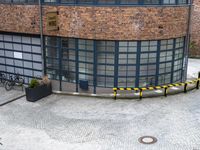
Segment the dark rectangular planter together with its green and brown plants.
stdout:
[[47,76],[44,76],[41,81],[32,79],[25,91],[27,101],[35,102],[52,93],[51,82]]

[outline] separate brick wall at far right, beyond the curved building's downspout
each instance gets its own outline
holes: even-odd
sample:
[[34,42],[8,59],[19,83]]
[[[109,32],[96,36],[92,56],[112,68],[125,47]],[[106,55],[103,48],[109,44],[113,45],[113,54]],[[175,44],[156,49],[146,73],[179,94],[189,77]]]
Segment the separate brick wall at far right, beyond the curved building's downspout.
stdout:
[[191,21],[191,43],[189,54],[191,57],[200,57],[200,0],[194,0]]

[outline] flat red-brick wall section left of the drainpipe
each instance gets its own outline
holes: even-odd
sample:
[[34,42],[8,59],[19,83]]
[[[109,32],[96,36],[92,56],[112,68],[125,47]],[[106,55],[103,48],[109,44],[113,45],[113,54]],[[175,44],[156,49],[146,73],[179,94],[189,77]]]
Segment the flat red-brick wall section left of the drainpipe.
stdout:
[[38,34],[38,11],[35,5],[0,4],[0,31]]

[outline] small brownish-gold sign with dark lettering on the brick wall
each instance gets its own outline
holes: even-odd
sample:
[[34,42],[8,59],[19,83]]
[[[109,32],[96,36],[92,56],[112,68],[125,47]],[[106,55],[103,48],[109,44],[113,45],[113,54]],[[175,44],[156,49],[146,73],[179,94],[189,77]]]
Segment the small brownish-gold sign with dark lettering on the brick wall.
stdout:
[[58,12],[50,11],[47,12],[46,27],[48,31],[58,30]]

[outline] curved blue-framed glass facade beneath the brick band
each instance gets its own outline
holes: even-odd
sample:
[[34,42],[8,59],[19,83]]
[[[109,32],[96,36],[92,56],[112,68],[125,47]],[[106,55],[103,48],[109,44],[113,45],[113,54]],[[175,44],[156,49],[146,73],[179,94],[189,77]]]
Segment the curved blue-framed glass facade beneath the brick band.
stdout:
[[93,87],[146,87],[185,80],[185,37],[103,41],[45,37],[51,79]]

